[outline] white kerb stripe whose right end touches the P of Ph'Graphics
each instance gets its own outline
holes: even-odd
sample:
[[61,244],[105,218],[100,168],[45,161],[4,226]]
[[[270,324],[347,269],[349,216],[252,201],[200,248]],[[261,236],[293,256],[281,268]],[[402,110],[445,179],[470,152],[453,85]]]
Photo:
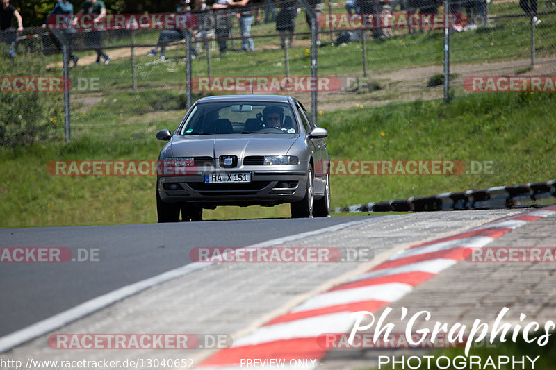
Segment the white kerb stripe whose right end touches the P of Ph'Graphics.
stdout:
[[336,312],[316,317],[261,326],[246,337],[234,340],[231,348],[252,346],[294,338],[318,337],[325,333],[348,333],[353,324],[352,312]]

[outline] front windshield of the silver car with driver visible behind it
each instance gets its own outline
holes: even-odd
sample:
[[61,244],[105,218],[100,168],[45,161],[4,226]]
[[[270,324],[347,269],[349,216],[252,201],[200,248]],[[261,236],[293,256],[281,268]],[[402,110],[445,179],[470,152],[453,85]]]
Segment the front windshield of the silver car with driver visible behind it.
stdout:
[[197,104],[181,127],[179,135],[299,132],[288,103],[229,101]]

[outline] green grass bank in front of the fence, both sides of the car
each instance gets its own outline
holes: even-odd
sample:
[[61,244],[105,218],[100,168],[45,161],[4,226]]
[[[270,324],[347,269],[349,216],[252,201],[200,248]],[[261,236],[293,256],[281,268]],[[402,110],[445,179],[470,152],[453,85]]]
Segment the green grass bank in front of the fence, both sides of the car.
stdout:
[[[332,159],[493,161],[493,174],[460,176],[332,176],[332,207],[426,196],[495,185],[551,180],[556,154],[554,94],[484,93],[441,101],[391,103],[325,112]],[[112,114],[112,113],[111,113]],[[113,112],[117,117],[117,109]],[[177,126],[182,111],[122,135],[88,135],[69,144],[0,148],[0,226],[133,224],[156,221],[154,176],[51,176],[52,160],[156,160],[160,128]],[[147,116],[143,115],[143,116]],[[136,121],[145,120],[138,115]],[[116,118],[115,118],[116,119]],[[147,120],[148,121],[148,120]],[[141,126],[144,128],[144,126]],[[384,136],[381,135],[384,133]],[[206,219],[288,217],[277,208],[217,208]]]

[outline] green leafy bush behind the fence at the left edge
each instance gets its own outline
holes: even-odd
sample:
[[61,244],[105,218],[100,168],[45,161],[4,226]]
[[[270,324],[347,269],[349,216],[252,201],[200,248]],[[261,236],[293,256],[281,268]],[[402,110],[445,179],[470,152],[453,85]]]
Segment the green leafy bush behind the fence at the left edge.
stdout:
[[[17,54],[8,58],[6,44],[0,45],[0,83],[10,76],[61,76],[47,74],[35,61],[39,56]],[[12,92],[2,85],[0,94],[0,145],[31,144],[63,137],[63,92]]]

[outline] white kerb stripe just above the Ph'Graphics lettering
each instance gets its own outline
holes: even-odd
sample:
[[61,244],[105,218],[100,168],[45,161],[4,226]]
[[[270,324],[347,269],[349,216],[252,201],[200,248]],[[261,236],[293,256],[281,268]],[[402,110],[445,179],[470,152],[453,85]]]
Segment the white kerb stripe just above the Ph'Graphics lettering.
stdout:
[[291,312],[302,312],[308,310],[316,310],[332,305],[343,305],[345,303],[354,303],[362,301],[398,301],[405,294],[409,293],[413,286],[405,283],[386,283],[378,285],[369,285],[367,287],[357,287],[352,289],[334,290],[325,292],[318,296],[313,296],[307,301],[298,305]]

